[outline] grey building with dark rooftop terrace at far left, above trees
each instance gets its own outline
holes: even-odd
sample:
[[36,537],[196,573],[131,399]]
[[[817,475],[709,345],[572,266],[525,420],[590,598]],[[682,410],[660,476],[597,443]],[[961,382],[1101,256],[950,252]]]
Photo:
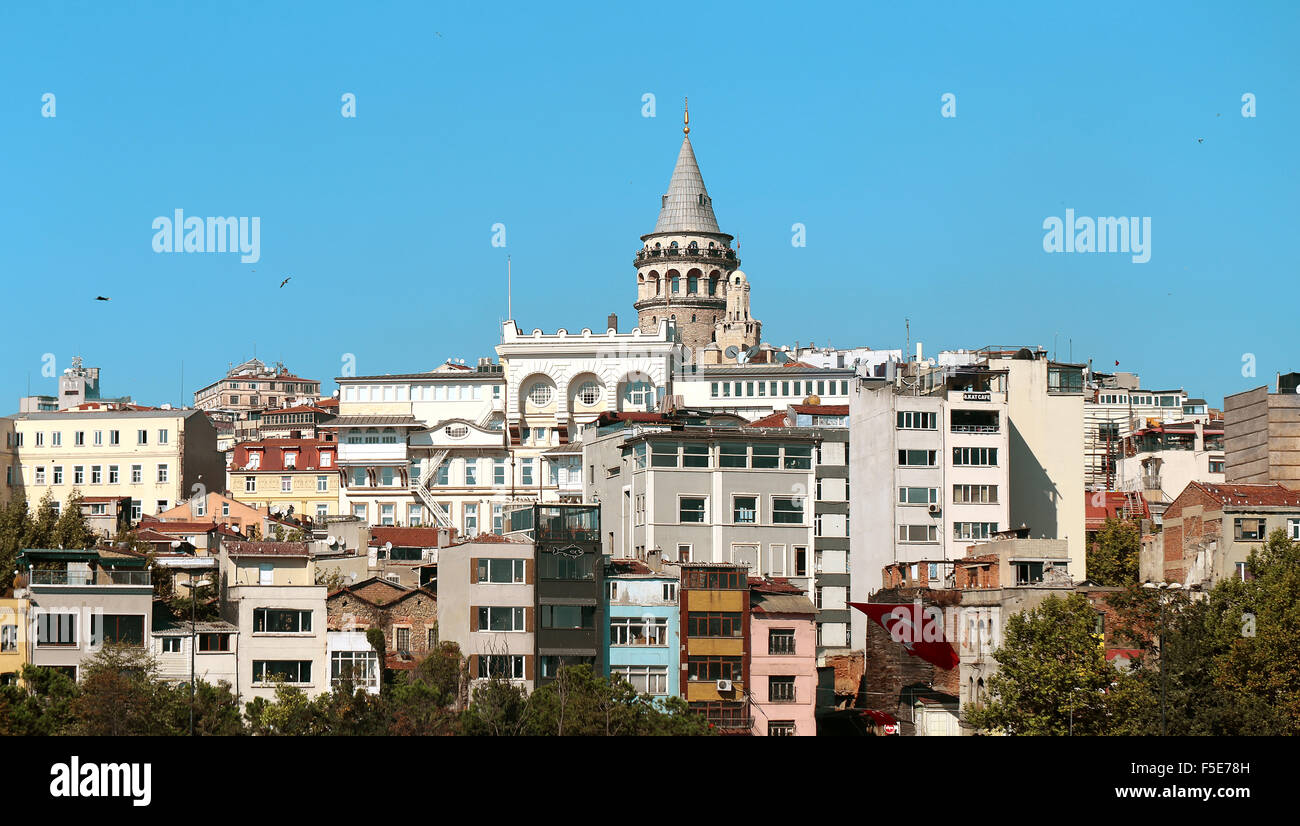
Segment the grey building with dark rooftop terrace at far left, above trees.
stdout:
[[144,554],[23,549],[21,587],[31,633],[26,661],[81,679],[105,644],[152,645],[153,584]]

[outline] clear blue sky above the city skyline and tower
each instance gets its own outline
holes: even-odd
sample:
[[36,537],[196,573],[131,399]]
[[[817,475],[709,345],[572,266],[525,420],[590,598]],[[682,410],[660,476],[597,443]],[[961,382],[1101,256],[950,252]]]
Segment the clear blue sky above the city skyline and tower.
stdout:
[[[473,362],[507,252],[525,329],[627,326],[684,95],[766,341],[906,317],[1216,405],[1300,369],[1292,3],[109,5],[0,7],[9,411],[46,353],[144,403],[255,347],[328,389]],[[1067,207],[1150,217],[1150,260],[1044,252]],[[153,252],[177,208],[259,216],[261,260]]]

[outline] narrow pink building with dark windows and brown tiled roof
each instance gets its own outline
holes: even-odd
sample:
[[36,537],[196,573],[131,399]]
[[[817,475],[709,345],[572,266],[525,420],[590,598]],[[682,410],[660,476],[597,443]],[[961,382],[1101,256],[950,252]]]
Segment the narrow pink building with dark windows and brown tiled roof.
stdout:
[[816,735],[816,607],[784,579],[750,579],[750,706],[757,736]]

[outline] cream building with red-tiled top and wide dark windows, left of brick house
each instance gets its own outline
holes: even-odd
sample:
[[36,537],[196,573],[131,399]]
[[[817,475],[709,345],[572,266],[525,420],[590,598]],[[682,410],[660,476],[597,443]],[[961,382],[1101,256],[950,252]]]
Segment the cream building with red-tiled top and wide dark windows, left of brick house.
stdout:
[[308,696],[330,689],[325,585],[307,542],[222,542],[221,614],[240,630],[242,702],[274,699],[283,683]]

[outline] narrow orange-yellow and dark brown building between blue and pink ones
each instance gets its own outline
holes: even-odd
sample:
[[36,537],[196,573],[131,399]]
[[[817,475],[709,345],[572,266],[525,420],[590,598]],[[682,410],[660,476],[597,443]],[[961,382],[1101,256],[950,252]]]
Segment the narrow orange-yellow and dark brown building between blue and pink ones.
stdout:
[[749,568],[682,562],[682,697],[720,734],[751,734]]

